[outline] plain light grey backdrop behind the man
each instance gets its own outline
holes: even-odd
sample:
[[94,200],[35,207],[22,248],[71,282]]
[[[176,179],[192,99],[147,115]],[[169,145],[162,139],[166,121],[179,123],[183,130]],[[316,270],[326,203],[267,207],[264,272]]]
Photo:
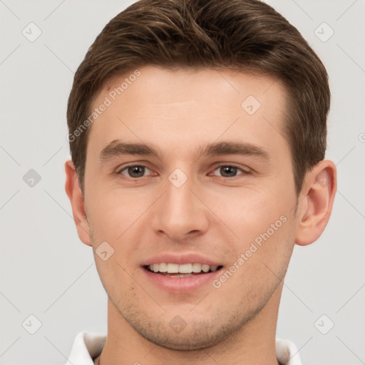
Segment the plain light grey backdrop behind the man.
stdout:
[[[0,364],[64,364],[79,331],[107,329],[106,293],[64,191],[66,101],[88,47],[132,2],[0,1]],[[268,2],[327,67],[327,158],[339,176],[324,234],[294,248],[277,336],[294,341],[303,364],[365,364],[365,2]],[[35,41],[22,34],[36,35],[31,22]]]

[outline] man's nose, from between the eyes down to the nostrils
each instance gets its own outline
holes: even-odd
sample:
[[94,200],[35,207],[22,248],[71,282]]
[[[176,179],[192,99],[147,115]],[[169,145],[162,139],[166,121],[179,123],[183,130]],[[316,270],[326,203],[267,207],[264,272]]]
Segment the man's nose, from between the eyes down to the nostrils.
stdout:
[[173,240],[204,233],[209,226],[209,210],[197,191],[190,178],[180,187],[167,180],[165,192],[155,204],[153,230],[160,235],[165,233]]

